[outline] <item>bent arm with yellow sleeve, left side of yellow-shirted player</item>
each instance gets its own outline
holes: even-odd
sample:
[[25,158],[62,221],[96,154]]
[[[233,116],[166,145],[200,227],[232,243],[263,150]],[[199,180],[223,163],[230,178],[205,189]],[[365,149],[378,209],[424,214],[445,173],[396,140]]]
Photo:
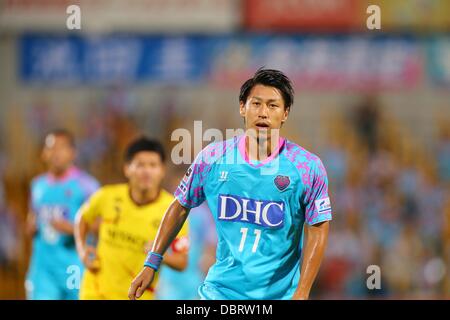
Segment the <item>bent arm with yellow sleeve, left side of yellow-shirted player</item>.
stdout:
[[80,260],[91,272],[99,270],[99,261],[97,259],[97,250],[95,247],[87,244],[86,240],[89,232],[93,231],[95,223],[100,217],[100,203],[103,196],[103,190],[100,189],[86,201],[78,211],[75,218],[74,236]]

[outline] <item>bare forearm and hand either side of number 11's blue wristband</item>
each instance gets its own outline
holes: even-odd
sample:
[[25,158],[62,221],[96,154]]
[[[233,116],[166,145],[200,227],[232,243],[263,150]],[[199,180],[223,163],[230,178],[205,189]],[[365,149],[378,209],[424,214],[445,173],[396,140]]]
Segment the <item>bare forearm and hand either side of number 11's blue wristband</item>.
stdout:
[[[161,256],[164,255],[180,232],[181,227],[189,215],[189,210],[189,208],[181,205],[177,199],[171,203],[159,225],[156,239],[153,242],[152,252]],[[131,283],[128,298],[130,300],[139,299],[145,289],[152,283],[154,277],[155,270],[150,267],[144,267]]]

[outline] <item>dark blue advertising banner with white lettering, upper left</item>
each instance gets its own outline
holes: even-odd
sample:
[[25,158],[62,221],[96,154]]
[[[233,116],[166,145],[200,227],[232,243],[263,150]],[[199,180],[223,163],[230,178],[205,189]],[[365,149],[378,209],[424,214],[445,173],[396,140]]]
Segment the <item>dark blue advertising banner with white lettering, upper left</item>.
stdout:
[[195,37],[45,36],[20,41],[20,78],[47,84],[201,80],[207,51]]

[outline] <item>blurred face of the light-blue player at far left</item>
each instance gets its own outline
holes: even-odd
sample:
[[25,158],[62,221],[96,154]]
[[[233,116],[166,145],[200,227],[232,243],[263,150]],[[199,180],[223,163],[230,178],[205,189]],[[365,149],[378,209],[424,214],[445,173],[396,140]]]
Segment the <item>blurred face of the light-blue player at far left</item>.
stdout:
[[75,149],[66,136],[51,134],[45,139],[42,158],[51,172],[62,174],[72,165]]

